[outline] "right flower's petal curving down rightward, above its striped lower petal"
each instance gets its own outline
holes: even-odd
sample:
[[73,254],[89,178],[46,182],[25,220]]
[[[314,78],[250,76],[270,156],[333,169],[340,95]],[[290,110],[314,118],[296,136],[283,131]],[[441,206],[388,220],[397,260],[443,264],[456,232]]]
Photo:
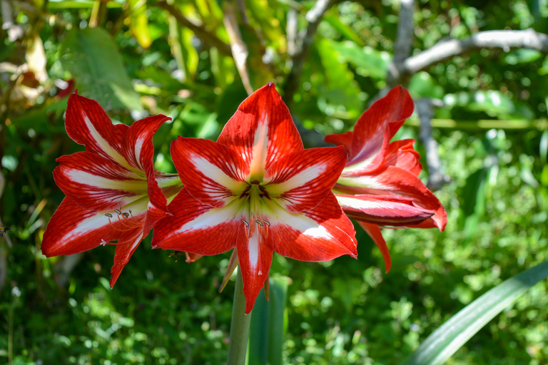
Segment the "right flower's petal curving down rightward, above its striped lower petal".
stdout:
[[[422,181],[409,171],[388,166],[377,170],[375,175],[344,176],[338,180],[334,190],[342,194],[396,195],[409,197],[413,205],[426,210],[432,210],[435,215],[420,224],[420,227],[430,227],[434,224],[441,231],[447,224],[447,213],[440,200],[432,194]],[[427,224],[430,222],[430,225]]]

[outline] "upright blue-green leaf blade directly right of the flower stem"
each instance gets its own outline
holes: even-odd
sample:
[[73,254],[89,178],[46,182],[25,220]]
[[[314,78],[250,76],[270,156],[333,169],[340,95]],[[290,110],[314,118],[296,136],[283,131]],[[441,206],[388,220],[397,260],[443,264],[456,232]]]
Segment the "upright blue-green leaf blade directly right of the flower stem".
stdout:
[[259,293],[251,312],[247,364],[282,365],[287,292],[287,279],[275,278],[270,279],[268,302],[265,299],[264,289]]

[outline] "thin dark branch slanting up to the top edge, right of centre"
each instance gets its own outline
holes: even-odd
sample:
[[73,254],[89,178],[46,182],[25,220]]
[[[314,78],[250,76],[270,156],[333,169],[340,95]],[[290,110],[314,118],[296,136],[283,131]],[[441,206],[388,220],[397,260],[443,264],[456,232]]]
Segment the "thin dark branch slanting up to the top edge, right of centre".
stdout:
[[293,56],[293,66],[291,66],[291,71],[283,88],[283,100],[290,110],[291,105],[293,104],[293,95],[295,95],[295,91],[297,91],[300,74],[303,72],[303,65],[308,57],[310,46],[314,41],[318,25],[320,24],[325,11],[328,11],[333,3],[333,0],[318,0],[314,7],[306,13],[305,17],[306,20],[308,20],[308,27],[301,37],[300,42],[297,42],[296,46],[298,49],[295,52],[295,56]]

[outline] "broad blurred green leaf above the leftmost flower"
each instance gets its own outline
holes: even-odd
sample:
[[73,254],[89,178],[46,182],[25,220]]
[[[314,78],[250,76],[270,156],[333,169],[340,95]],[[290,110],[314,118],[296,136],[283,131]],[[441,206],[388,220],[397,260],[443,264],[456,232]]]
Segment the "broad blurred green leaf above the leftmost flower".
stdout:
[[106,109],[141,110],[138,93],[111,36],[100,28],[73,29],[61,44],[63,67],[83,96]]

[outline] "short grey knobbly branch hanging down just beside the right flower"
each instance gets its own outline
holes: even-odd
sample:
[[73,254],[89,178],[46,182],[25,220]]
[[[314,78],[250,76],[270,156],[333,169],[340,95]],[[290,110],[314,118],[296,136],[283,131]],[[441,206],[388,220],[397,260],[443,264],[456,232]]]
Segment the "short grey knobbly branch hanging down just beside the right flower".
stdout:
[[440,156],[437,155],[437,142],[432,137],[430,120],[434,116],[434,107],[441,106],[441,104],[435,105],[431,99],[422,98],[415,101],[415,106],[420,119],[419,139],[422,145],[425,146],[426,151],[428,169],[428,183],[426,186],[432,191],[440,190],[443,185],[450,182],[450,179],[441,171]]

